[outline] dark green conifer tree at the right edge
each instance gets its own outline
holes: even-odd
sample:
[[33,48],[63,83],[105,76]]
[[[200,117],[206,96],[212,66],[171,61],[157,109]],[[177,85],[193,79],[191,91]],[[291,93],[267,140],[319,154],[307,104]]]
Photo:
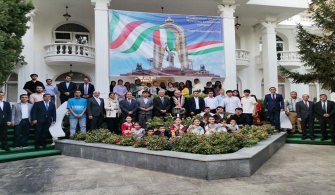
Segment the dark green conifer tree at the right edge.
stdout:
[[301,74],[288,71],[280,66],[280,71],[294,83],[322,84],[322,88],[335,92],[335,0],[316,0],[308,12],[321,33],[315,34],[297,25],[296,41],[303,66],[310,67],[311,72]]

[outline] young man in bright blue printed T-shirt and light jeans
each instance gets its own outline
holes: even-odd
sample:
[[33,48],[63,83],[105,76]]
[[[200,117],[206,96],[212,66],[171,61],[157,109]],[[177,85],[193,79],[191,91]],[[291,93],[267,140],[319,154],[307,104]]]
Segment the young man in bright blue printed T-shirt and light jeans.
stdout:
[[75,133],[75,127],[79,122],[80,131],[86,132],[86,105],[87,100],[80,97],[80,90],[74,91],[74,97],[67,100],[66,108],[71,113],[70,114],[70,136]]

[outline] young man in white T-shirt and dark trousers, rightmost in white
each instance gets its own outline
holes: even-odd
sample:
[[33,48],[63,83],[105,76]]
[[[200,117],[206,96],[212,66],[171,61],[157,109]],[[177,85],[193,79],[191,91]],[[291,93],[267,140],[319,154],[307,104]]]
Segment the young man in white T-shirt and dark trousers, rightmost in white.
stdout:
[[253,116],[256,115],[256,99],[254,97],[250,96],[250,90],[245,89],[243,91],[244,97],[241,99],[241,104],[243,108],[243,113],[248,115],[250,120],[249,120],[249,125],[253,123]]

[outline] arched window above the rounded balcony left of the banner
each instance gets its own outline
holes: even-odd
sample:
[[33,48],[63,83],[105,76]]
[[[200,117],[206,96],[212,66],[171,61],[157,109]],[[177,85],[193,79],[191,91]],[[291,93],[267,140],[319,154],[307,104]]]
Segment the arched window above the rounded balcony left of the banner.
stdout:
[[73,42],[90,44],[90,33],[87,28],[76,23],[65,23],[53,31],[54,42]]

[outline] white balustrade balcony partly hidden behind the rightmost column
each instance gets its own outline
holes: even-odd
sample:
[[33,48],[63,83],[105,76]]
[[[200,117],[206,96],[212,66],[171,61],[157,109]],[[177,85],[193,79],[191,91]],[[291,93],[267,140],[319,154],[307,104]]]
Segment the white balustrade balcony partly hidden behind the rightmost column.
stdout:
[[[302,66],[297,51],[277,51],[277,63],[288,70],[296,69]],[[262,54],[255,56],[255,61],[258,69],[263,69]]]

